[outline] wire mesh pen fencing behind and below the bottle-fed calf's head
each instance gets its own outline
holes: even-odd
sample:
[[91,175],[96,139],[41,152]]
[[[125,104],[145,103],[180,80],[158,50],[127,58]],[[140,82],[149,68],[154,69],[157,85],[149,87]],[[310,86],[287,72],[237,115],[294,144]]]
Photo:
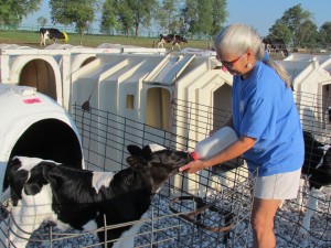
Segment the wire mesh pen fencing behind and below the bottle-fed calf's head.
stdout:
[[[175,105],[171,130],[166,131],[108,111],[94,108],[84,111],[81,106],[74,106],[85,166],[121,170],[128,155],[126,145],[132,143],[193,150],[196,140],[190,138],[190,128],[201,126],[190,125],[195,120],[186,116],[192,116],[190,111],[195,107],[178,111],[179,107],[184,106]],[[199,132],[207,136],[206,130]],[[226,163],[227,170],[214,168],[193,176],[180,174],[167,182],[153,198],[150,222],[143,224],[136,238],[138,247],[151,244],[157,247],[245,247],[249,242],[253,183],[247,169],[238,166],[243,163],[242,159],[235,159]]]

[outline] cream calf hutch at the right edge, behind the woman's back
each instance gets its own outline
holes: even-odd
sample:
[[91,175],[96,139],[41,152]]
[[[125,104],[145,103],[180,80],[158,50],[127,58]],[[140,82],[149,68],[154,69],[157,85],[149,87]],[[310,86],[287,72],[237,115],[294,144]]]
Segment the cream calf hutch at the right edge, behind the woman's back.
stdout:
[[295,53],[280,63],[292,78],[303,129],[330,142],[331,56]]

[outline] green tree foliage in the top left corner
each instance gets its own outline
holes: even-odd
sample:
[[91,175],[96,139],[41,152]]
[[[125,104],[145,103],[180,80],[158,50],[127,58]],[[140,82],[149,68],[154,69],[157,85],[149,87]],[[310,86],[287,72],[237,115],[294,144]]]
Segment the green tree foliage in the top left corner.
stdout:
[[41,0],[0,0],[0,24],[18,25],[24,17],[40,9]]

